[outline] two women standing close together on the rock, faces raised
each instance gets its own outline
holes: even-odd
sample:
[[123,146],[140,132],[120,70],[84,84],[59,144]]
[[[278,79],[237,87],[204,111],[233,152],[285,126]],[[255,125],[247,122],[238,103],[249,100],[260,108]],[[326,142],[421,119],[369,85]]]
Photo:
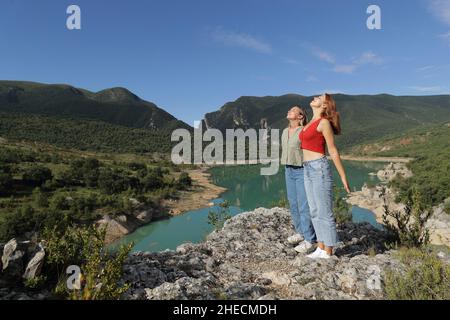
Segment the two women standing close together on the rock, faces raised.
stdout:
[[[286,166],[288,201],[297,232],[288,238],[288,242],[301,242],[295,249],[304,253],[317,240],[316,250],[308,257],[328,259],[339,240],[333,215],[333,180],[325,145],[348,193],[350,188],[334,143],[334,135],[341,132],[336,103],[329,94],[323,94],[315,97],[310,106],[313,118],[309,123],[301,108],[296,106],[289,110],[289,127],[282,135],[281,164]],[[291,145],[297,139],[298,150],[294,151]],[[293,174],[293,170],[297,174]]]

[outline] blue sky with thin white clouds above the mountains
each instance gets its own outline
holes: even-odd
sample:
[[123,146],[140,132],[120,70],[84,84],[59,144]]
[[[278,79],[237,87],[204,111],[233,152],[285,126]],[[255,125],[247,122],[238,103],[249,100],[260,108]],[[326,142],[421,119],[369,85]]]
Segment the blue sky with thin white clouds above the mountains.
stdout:
[[0,79],[122,86],[191,125],[243,95],[450,93],[450,0],[2,0],[0,38]]

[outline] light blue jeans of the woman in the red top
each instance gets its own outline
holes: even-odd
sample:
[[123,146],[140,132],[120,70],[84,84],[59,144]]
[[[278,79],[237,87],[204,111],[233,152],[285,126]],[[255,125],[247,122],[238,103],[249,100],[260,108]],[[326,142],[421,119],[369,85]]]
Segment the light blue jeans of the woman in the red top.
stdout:
[[336,220],[333,215],[333,178],[328,159],[303,162],[305,168],[305,189],[311,220],[317,233],[317,240],[327,247],[338,242]]

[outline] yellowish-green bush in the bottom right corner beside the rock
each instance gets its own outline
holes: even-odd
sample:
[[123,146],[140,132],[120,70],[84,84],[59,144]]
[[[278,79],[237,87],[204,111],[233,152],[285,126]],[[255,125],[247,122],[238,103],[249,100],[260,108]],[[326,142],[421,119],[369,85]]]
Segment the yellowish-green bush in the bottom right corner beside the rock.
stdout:
[[404,272],[387,270],[385,292],[391,300],[450,299],[450,266],[435,254],[417,248],[398,253]]

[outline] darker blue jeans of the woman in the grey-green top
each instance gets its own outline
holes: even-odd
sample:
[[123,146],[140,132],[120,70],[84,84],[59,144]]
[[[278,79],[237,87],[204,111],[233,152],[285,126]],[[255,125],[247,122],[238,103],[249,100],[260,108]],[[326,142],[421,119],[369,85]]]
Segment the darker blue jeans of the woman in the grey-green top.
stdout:
[[302,167],[285,167],[287,197],[295,231],[303,235],[306,241],[314,243],[317,239],[309,214],[303,170]]

